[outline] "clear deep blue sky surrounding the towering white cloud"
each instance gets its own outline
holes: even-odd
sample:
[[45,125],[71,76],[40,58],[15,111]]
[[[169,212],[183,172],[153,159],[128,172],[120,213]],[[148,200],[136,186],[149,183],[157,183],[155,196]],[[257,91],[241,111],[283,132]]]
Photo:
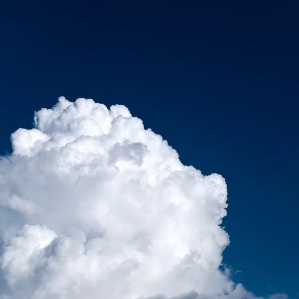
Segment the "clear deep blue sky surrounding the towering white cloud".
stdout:
[[59,96],[124,104],[229,191],[224,262],[299,292],[295,1],[1,1],[0,152]]

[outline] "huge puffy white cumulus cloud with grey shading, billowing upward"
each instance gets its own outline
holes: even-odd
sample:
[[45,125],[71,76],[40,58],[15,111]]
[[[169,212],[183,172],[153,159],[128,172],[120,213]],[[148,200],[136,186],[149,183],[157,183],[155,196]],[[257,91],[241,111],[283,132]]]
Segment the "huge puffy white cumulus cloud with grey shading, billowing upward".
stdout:
[[34,124],[0,160],[1,299],[255,298],[219,270],[221,175],[121,105],[61,97]]

